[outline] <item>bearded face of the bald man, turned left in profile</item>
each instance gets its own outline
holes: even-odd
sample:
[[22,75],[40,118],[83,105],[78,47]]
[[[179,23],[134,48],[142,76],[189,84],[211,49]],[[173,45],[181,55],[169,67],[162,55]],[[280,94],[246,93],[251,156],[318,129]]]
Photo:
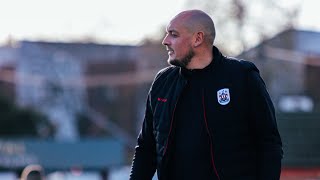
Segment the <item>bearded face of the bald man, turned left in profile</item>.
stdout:
[[174,19],[167,27],[167,34],[162,41],[168,51],[168,63],[187,67],[194,56],[192,49],[192,33],[181,25],[179,19]]

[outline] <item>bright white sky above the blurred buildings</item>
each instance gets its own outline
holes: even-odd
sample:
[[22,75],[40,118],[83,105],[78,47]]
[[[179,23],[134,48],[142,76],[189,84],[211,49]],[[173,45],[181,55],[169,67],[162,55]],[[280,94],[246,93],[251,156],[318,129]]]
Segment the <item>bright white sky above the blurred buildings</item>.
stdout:
[[[187,0],[0,0],[0,44],[13,40],[139,44],[159,37]],[[291,0],[283,0],[290,3]],[[297,27],[320,32],[320,1],[303,0]],[[198,8],[198,7],[188,7]]]

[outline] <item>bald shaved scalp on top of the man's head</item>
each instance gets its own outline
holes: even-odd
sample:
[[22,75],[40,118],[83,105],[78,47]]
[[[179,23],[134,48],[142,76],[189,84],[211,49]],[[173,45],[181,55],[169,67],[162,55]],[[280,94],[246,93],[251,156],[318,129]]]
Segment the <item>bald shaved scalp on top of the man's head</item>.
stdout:
[[176,15],[173,21],[178,21],[188,31],[194,33],[202,31],[205,36],[205,41],[213,45],[216,32],[214,23],[211,17],[201,10],[187,10]]

